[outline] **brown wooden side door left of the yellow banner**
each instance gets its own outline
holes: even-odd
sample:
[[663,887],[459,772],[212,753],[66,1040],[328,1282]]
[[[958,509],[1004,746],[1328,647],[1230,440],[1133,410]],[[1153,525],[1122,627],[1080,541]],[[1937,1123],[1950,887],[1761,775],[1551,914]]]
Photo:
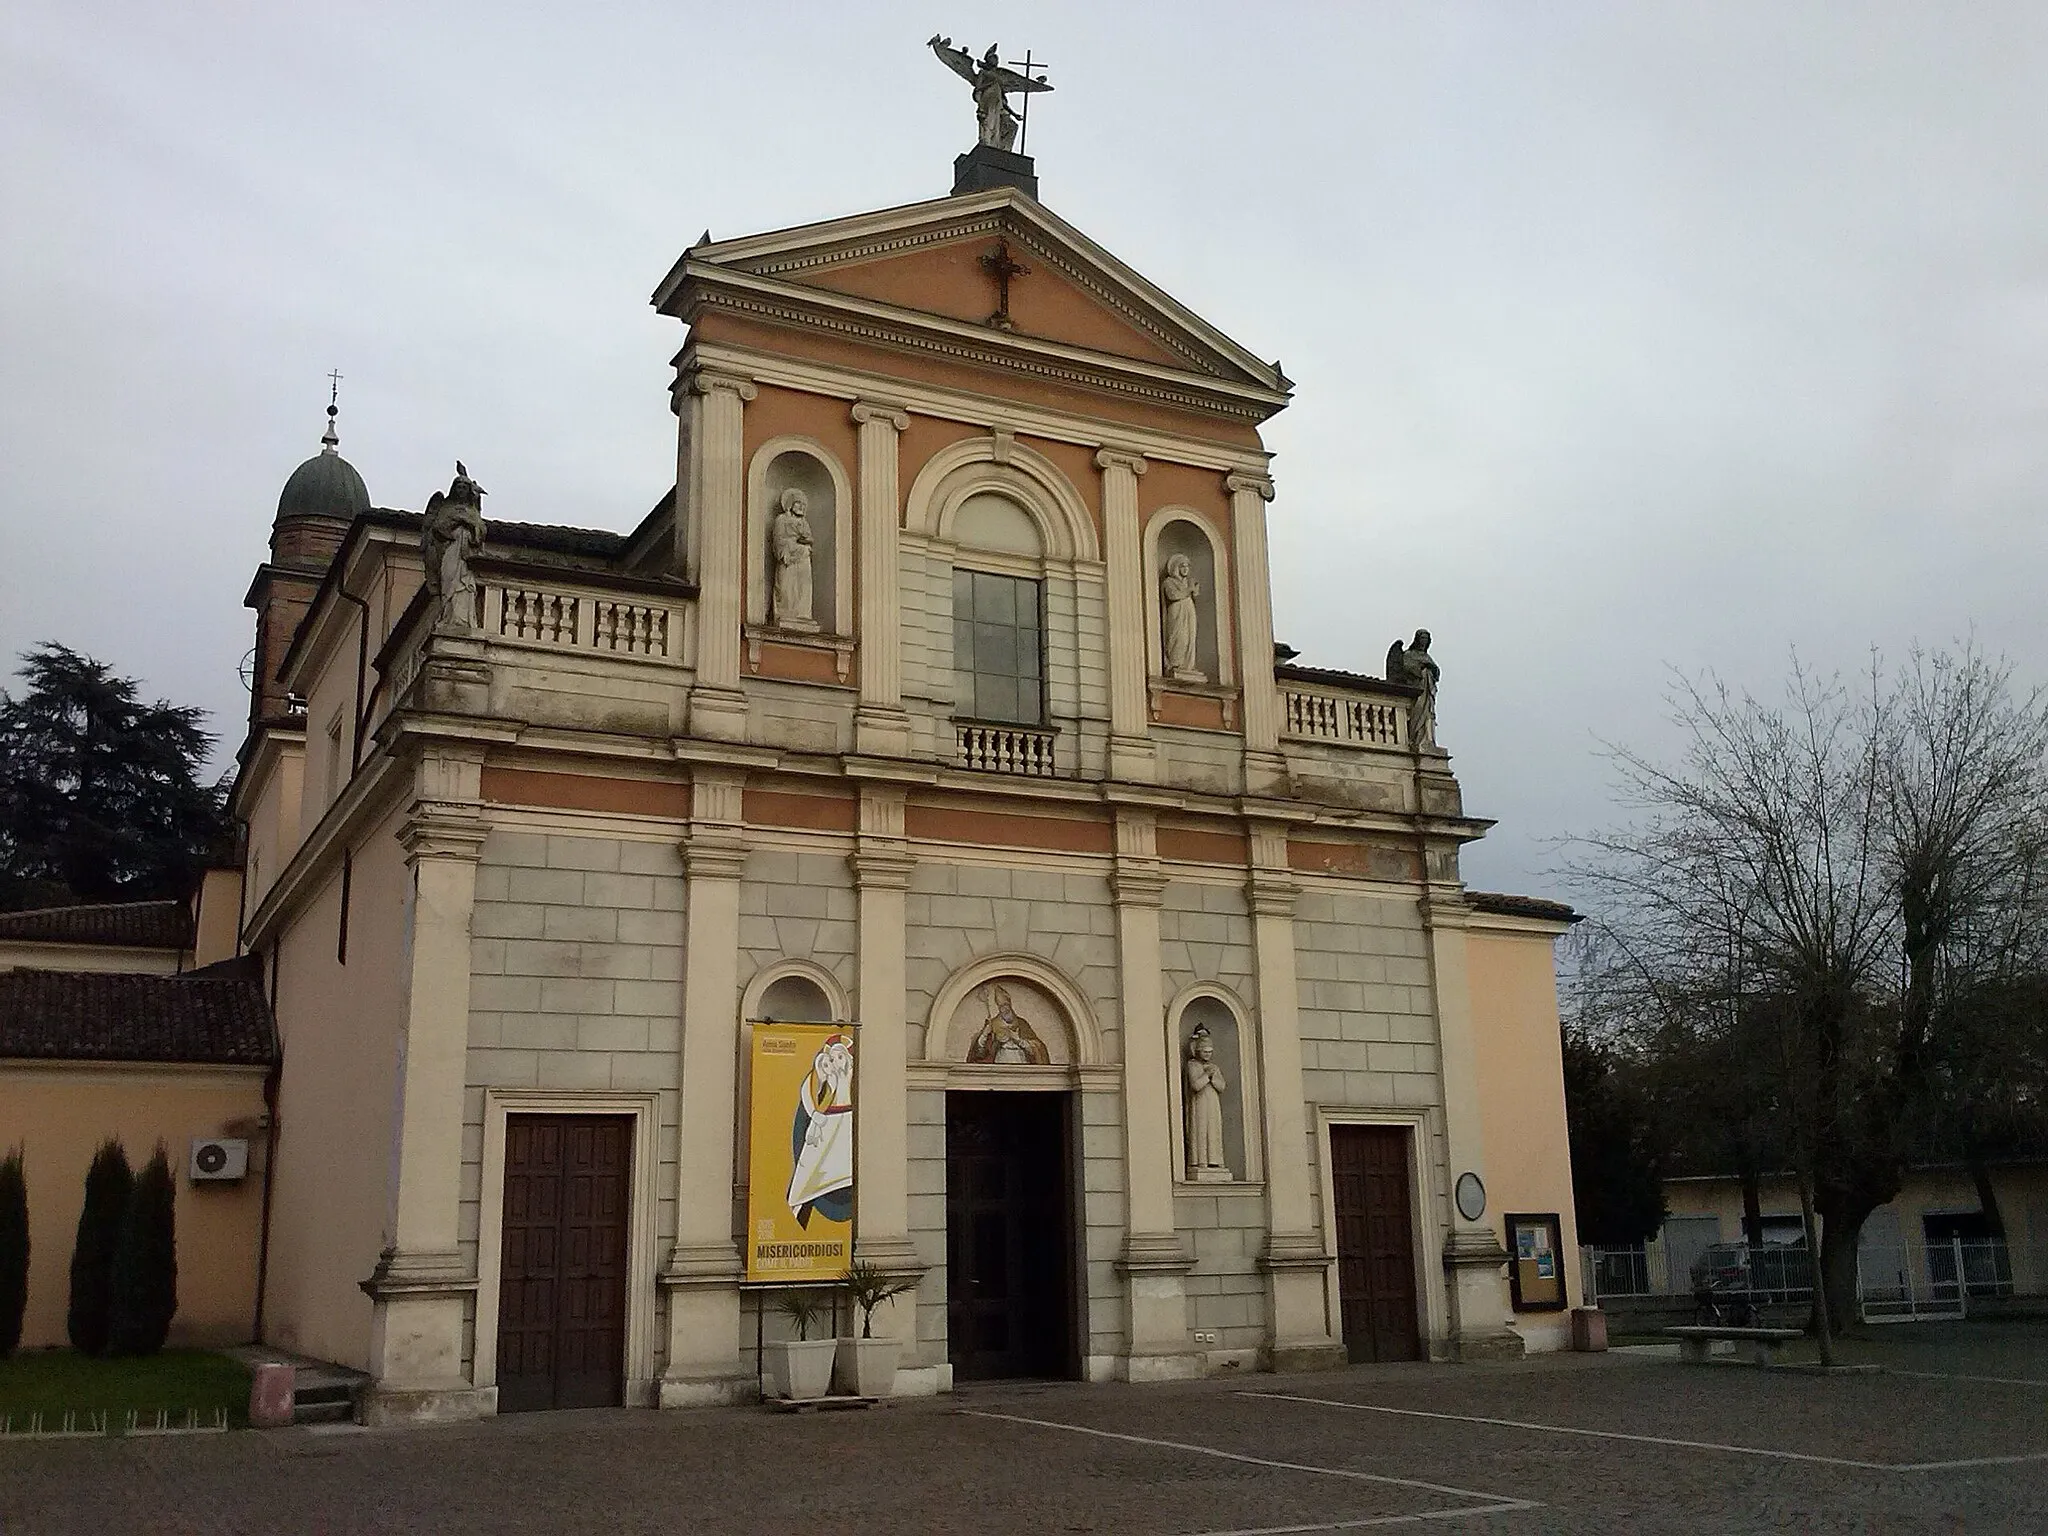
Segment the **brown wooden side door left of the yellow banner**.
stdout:
[[631,1163],[631,1116],[506,1116],[500,1413],[623,1401]]

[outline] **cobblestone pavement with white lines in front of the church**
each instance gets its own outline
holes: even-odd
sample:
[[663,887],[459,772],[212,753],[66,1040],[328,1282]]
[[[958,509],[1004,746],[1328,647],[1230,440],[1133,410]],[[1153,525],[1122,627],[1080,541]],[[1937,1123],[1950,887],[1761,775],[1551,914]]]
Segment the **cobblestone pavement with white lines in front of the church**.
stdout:
[[1972,1333],[1956,1362],[1985,1360],[1999,1380],[1565,1356],[12,1442],[0,1532],[2048,1532],[2048,1329]]

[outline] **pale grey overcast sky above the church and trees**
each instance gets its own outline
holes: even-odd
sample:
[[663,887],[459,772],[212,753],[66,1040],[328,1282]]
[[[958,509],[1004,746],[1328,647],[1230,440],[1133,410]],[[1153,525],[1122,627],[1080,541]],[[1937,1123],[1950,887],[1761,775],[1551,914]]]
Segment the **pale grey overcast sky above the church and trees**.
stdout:
[[924,49],[1032,47],[1049,207],[1260,356],[1276,629],[1378,672],[1554,891],[1665,670],[1974,629],[2048,680],[2048,6],[0,8],[0,655],[246,713],[240,606],[317,449],[418,508],[629,528],[715,236],[936,197]]

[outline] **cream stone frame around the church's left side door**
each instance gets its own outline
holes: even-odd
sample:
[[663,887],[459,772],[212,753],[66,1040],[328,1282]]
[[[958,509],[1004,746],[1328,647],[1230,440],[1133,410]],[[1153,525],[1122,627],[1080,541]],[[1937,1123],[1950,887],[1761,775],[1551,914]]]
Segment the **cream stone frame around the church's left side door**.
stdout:
[[498,1411],[498,1284],[504,1266],[506,1116],[606,1114],[633,1120],[627,1174],[625,1405],[653,1407],[655,1200],[659,1198],[659,1094],[584,1094],[545,1087],[483,1090],[483,1155],[477,1180],[477,1337],[471,1380]]

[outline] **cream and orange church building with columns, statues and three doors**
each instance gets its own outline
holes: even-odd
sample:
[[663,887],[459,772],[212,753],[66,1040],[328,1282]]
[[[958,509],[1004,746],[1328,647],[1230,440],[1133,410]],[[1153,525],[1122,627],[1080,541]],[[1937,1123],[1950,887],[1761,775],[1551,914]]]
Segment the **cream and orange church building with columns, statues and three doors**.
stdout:
[[633,532],[422,539],[332,432],[281,504],[266,1339],[387,1421],[750,1397],[748,1036],[829,1022],[901,1393],[1556,1348],[1571,913],[1462,887],[1425,651],[1276,659],[1278,367],[1001,178],[653,303]]

